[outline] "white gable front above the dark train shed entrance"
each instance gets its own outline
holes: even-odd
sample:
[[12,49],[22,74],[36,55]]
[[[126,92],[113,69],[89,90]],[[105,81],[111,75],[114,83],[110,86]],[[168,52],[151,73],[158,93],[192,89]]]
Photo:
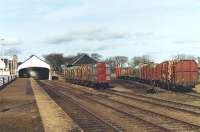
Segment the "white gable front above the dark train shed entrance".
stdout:
[[19,65],[17,70],[19,71],[21,69],[30,67],[41,67],[41,68],[51,69],[48,63],[46,63],[39,57],[32,55],[27,60],[25,60],[21,65]]

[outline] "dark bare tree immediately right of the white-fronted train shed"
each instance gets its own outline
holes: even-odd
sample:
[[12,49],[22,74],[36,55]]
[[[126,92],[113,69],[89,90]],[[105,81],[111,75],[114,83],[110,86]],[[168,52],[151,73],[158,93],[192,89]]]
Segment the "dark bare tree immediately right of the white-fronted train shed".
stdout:
[[44,55],[45,60],[53,67],[56,71],[61,71],[61,65],[64,65],[65,58],[63,54],[60,53],[52,53],[48,55]]

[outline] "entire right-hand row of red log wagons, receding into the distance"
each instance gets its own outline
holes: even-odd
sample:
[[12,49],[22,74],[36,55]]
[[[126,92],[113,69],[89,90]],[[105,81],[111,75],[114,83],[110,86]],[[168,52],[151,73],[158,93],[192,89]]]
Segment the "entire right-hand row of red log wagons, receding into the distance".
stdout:
[[143,64],[131,69],[130,75],[123,72],[127,70],[126,68],[118,68],[117,77],[178,91],[191,90],[198,80],[198,65],[194,60]]

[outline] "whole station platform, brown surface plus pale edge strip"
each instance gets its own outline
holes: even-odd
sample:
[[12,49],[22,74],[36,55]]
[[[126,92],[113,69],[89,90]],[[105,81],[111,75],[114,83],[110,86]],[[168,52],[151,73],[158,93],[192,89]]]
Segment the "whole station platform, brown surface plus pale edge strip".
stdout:
[[0,131],[82,131],[34,80],[18,78],[0,91]]

